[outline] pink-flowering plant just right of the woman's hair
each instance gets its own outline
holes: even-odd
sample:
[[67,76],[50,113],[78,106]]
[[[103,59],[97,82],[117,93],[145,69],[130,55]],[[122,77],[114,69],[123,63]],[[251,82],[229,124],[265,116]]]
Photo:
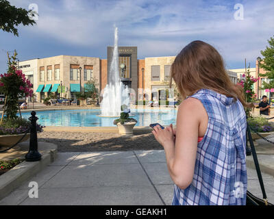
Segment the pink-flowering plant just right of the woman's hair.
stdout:
[[[256,99],[257,99],[257,94],[254,92],[253,90],[253,83],[256,83],[260,77],[255,78],[253,76],[250,75],[250,70],[249,67],[247,69],[247,75],[243,74],[242,75],[243,79],[238,82],[237,84],[242,86],[243,90],[244,90],[244,94],[245,94],[245,101],[247,103],[255,103]],[[251,117],[251,109],[246,109],[245,110],[247,116]]]

